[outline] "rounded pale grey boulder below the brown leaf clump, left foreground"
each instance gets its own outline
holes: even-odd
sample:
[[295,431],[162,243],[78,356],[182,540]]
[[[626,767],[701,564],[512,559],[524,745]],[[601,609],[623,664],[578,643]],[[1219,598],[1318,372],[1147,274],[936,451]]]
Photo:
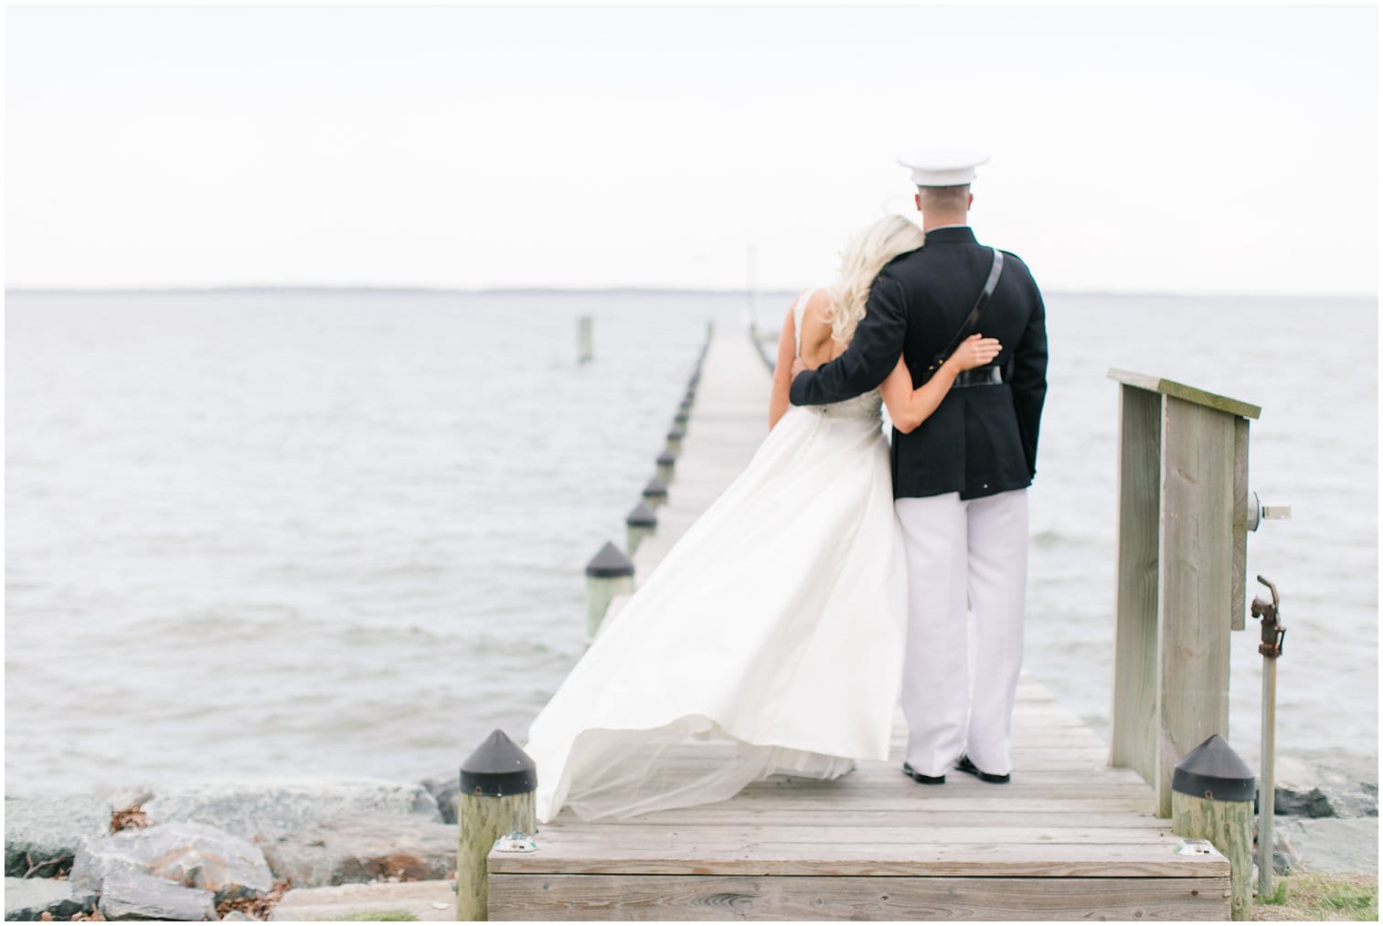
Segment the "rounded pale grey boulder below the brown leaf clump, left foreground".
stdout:
[[274,887],[264,854],[253,843],[205,824],[163,824],[87,836],[77,847],[72,882],[104,893],[104,882],[134,872],[216,894],[216,903],[259,897]]

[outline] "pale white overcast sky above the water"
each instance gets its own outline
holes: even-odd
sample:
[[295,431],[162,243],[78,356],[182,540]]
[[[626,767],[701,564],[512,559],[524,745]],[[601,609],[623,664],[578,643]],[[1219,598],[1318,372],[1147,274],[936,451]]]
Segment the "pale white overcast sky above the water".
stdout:
[[792,289],[978,145],[1047,290],[1376,292],[1372,7],[6,18],[10,287]]

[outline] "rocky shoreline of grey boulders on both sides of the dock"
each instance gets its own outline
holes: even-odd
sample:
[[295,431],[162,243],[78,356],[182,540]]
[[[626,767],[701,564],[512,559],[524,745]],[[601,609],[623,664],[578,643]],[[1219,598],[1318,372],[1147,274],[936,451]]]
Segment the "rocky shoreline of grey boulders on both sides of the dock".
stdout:
[[[1279,760],[1275,868],[1377,871],[1377,770]],[[6,796],[6,919],[267,919],[289,887],[455,878],[455,773]]]

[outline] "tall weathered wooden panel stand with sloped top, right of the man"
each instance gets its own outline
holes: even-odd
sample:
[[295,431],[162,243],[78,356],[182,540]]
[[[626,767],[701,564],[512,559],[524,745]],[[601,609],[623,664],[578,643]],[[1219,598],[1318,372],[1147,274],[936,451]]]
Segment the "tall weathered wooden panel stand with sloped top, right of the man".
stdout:
[[1109,370],[1119,527],[1109,764],[1171,815],[1177,760],[1229,733],[1229,630],[1243,627],[1249,422],[1261,409]]

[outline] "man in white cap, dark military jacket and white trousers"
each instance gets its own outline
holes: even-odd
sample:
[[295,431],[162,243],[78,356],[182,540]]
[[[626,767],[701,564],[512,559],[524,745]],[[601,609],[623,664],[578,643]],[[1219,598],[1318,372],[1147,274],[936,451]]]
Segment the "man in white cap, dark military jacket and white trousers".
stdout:
[[[899,159],[913,171],[927,243],[884,267],[849,348],[792,380],[794,405],[867,393],[884,381],[899,354],[913,387],[927,381],[928,366],[961,333],[992,276],[994,253],[976,243],[967,223],[969,182],[986,160],[943,153]],[[943,784],[952,767],[1004,784],[1012,768],[1028,486],[1047,394],[1041,293],[1014,254],[1004,252],[972,330],[1003,346],[993,365],[957,376],[932,416],[911,434],[895,430],[892,444],[909,569],[903,773],[927,785]],[[967,596],[975,614],[972,699]]]

